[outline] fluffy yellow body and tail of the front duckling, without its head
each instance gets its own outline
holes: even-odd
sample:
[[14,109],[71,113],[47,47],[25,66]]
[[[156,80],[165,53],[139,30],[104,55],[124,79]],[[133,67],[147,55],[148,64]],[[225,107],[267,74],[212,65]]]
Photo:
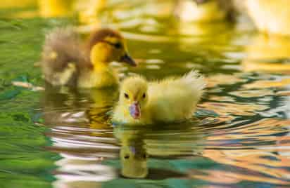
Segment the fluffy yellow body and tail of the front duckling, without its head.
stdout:
[[178,121],[192,116],[206,83],[198,72],[149,84],[149,111],[153,121]]

